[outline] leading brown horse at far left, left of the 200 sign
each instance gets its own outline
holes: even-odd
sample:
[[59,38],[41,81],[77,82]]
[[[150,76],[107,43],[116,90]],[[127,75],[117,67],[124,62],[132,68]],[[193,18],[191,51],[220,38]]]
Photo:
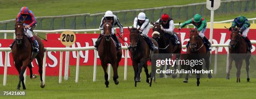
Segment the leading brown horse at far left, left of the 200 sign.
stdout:
[[[15,23],[15,43],[12,48],[13,61],[15,62],[15,68],[19,72],[19,83],[17,89],[20,89],[20,82],[22,82],[23,89],[26,89],[24,84],[24,72],[28,66],[30,71],[30,78],[36,78],[36,75],[32,74],[32,65],[31,62],[34,58],[38,61],[39,66],[39,74],[41,78],[41,88],[44,88],[45,85],[42,79],[42,68],[43,68],[43,58],[44,58],[44,44],[38,36],[35,36],[35,39],[38,41],[39,45],[39,53],[32,53],[32,43],[29,41],[28,36],[25,35],[26,30],[24,29],[24,25],[22,22]],[[32,56],[33,54],[33,56]]]

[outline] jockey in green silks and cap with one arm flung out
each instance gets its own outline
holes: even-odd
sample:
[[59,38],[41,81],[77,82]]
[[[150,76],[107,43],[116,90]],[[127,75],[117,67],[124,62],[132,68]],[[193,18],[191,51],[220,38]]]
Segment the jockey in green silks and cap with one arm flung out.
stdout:
[[[210,47],[212,44],[205,37],[205,31],[207,29],[206,20],[204,18],[202,18],[202,16],[200,14],[195,14],[194,18],[191,18],[191,19],[187,20],[186,22],[184,22],[183,24],[181,24],[179,29],[182,29],[187,24],[193,24],[197,28],[197,31],[199,31],[199,36],[201,36],[204,39],[204,41],[207,42],[207,48],[208,48],[208,50],[210,50]],[[187,47],[189,46],[189,43],[190,42],[188,41]]]

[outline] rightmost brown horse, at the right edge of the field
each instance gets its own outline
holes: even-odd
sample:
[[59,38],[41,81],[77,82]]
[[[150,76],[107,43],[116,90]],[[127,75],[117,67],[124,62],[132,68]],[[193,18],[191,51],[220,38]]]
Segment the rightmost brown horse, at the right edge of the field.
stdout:
[[232,68],[232,62],[235,61],[236,64],[236,82],[240,82],[241,67],[243,60],[246,60],[246,72],[247,72],[247,82],[250,81],[249,78],[249,65],[251,52],[247,50],[248,45],[243,37],[238,34],[238,28],[234,28],[230,35],[230,46],[229,46],[229,65],[226,79],[230,79],[230,70]]

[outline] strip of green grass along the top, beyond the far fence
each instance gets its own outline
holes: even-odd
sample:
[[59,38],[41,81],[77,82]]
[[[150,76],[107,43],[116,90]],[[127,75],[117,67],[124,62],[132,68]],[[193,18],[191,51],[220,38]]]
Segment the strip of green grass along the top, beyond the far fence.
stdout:
[[171,5],[186,5],[205,0],[0,0],[0,20],[14,19],[20,8],[27,6],[37,17],[79,13],[99,13],[106,10],[131,10]]

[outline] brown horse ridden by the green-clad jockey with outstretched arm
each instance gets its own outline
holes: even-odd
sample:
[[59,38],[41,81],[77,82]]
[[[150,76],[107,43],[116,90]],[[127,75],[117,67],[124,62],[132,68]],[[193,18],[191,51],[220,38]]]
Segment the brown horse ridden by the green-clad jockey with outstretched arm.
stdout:
[[[202,38],[198,35],[197,29],[191,29],[189,34],[189,47],[187,47],[187,59],[189,60],[205,60],[205,67],[207,70],[210,68],[210,51],[207,51]],[[191,66],[186,66],[187,70],[190,70]],[[202,65],[195,65],[192,69],[202,70]],[[197,86],[200,84],[200,73],[196,74],[197,77]],[[212,75],[208,73],[208,78],[211,78]],[[188,82],[188,74],[183,81],[185,83]]]

